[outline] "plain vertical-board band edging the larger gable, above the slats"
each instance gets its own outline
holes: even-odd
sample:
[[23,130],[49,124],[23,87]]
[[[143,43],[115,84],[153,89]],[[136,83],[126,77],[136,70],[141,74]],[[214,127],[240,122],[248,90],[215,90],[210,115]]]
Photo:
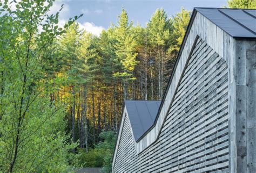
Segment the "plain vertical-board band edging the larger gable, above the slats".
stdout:
[[[170,88],[166,91],[166,97],[163,100],[163,107],[161,107],[156,124],[143,136],[141,140],[136,143],[136,150],[138,154],[157,140],[159,132],[163,127],[163,122],[165,121],[167,111],[169,111],[170,105],[173,101],[173,96],[175,95],[177,86],[179,85],[182,72],[186,66],[188,58],[190,57],[194,42],[197,37],[200,37],[205,42],[207,42],[207,44],[227,62],[233,61],[233,45],[235,40],[230,35],[221,30],[221,28],[205,18],[203,15],[197,13],[191,25],[189,34],[187,34],[187,39],[184,43],[183,51],[181,51],[179,61],[177,63],[177,68],[174,71],[170,84]],[[230,70],[232,73],[232,69]]]

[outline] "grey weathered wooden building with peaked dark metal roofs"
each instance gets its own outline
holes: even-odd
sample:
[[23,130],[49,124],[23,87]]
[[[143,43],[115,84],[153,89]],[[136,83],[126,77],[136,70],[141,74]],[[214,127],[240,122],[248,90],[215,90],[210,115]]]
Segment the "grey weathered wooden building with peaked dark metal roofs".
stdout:
[[163,100],[125,102],[112,166],[256,172],[256,10],[193,10]]

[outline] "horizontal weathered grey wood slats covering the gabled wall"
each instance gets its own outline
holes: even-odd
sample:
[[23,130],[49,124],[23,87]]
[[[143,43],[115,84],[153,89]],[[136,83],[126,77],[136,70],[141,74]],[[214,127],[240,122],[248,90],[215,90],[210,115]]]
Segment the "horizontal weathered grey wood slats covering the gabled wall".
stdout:
[[125,118],[114,172],[228,171],[227,62],[198,39],[159,138],[139,152]]

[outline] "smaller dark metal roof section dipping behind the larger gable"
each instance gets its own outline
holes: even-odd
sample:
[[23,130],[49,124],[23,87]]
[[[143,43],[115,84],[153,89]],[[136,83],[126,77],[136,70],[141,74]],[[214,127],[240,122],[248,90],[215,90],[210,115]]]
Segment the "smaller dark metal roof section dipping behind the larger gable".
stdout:
[[154,124],[160,103],[160,101],[144,100],[124,101],[136,141]]

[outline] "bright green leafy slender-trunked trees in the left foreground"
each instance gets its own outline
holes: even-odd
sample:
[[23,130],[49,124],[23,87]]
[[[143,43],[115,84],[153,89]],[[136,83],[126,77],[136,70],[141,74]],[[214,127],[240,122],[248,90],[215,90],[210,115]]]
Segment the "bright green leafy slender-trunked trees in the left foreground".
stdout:
[[[1,4],[0,17],[0,170],[65,171],[68,144],[64,107],[50,96],[59,85],[49,67],[57,65],[54,40],[64,30],[58,13],[48,15],[53,1]],[[73,23],[73,19],[70,23]],[[42,28],[42,30],[39,30]]]

